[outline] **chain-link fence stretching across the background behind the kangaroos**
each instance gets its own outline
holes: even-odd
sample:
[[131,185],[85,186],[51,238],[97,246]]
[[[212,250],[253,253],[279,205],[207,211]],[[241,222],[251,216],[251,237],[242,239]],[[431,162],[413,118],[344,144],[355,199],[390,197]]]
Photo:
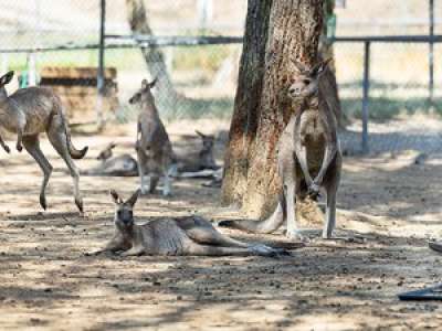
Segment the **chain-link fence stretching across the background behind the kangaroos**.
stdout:
[[[130,35],[126,0],[106,2],[106,34]],[[427,1],[391,0],[387,3],[373,0],[369,4],[362,0],[345,2],[345,8],[336,9],[338,38],[428,33]],[[14,70],[21,76],[20,83],[17,81],[8,88],[13,90],[19,85],[32,85],[36,81],[57,85],[57,90],[65,94],[67,107],[72,108],[72,116],[76,120],[84,120],[87,117],[84,116],[86,111],[91,115],[87,118],[94,120],[99,4],[99,0],[2,1],[1,71],[4,73],[7,70]],[[157,36],[243,34],[246,0],[162,0],[144,1],[144,4],[148,23]],[[436,2],[435,6],[434,33],[441,34],[442,24],[438,14],[442,11],[442,3]],[[139,47],[112,46],[117,44],[117,40],[106,40],[108,47],[105,52],[105,65],[109,70],[106,72],[106,79],[112,88],[106,95],[110,100],[107,103],[105,116],[122,122],[135,119],[136,110],[127,100],[139,88],[143,78],[152,77]],[[48,50],[50,47],[53,50]],[[33,52],[35,49],[46,50]],[[178,102],[159,105],[161,116],[168,120],[201,117],[228,119],[233,109],[241,49],[240,43],[159,47],[173,87],[180,96]],[[337,42],[334,49],[341,104],[345,114],[351,119],[348,126],[350,134],[344,136],[343,140],[344,145],[357,145],[360,137],[364,43]],[[424,129],[422,125],[414,125],[415,121],[412,122],[414,126],[404,126],[404,120],[398,120],[415,118],[417,115],[434,117],[442,110],[442,44],[434,44],[434,98],[431,104],[428,100],[428,50],[429,45],[425,43],[371,44],[371,150],[387,151],[409,147],[435,150],[442,146],[439,141],[439,129],[442,128],[436,122],[431,122],[431,129]],[[76,111],[80,114],[77,117]],[[392,134],[388,136],[388,132]]]

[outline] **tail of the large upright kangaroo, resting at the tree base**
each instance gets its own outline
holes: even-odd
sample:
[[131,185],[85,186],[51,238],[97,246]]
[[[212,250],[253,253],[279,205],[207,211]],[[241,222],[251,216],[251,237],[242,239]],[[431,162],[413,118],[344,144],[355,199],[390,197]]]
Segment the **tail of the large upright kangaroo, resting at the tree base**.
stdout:
[[275,232],[283,223],[285,217],[285,199],[284,194],[281,194],[280,202],[273,212],[273,214],[263,221],[221,221],[218,223],[221,227],[230,227],[238,228],[252,233],[273,233]]

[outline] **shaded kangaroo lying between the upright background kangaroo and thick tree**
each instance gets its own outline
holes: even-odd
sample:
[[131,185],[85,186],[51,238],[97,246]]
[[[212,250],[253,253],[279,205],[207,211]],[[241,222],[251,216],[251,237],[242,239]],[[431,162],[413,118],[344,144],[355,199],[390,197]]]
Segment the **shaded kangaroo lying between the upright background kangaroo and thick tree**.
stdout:
[[212,135],[203,135],[200,131],[196,134],[201,138],[202,147],[198,153],[189,153],[182,157],[177,157],[177,170],[178,172],[196,172],[204,169],[217,170],[220,167],[217,166],[213,156],[214,137]]

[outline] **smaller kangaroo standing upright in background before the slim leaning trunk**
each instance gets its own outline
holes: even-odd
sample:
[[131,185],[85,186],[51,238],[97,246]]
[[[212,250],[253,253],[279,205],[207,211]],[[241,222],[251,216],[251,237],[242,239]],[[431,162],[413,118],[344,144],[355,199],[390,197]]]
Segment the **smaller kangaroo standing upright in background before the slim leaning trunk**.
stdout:
[[[162,195],[171,194],[170,175],[176,170],[175,154],[169,136],[159,118],[151,88],[157,79],[141,82],[141,88],[129,99],[130,105],[140,109],[137,122],[136,150],[141,193],[154,193],[160,177],[164,177]],[[149,189],[146,189],[145,175],[149,175]]]

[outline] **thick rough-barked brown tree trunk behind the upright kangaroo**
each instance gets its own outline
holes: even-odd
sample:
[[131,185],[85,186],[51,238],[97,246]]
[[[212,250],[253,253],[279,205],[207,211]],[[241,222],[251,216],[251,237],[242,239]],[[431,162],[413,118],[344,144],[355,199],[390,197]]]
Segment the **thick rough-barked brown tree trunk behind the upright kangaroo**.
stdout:
[[273,211],[281,180],[276,143],[293,111],[287,97],[293,60],[318,58],[322,0],[250,0],[222,199],[252,217]]

